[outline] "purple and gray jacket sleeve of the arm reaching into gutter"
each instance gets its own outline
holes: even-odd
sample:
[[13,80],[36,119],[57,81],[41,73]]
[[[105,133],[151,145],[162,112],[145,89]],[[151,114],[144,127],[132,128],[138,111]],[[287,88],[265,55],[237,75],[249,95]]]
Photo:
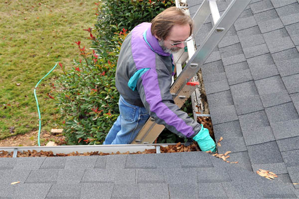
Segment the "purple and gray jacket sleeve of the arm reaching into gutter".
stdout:
[[192,138],[200,131],[201,126],[174,104],[170,86],[171,74],[165,67],[150,68],[139,78],[137,90],[156,123],[163,124],[177,135]]

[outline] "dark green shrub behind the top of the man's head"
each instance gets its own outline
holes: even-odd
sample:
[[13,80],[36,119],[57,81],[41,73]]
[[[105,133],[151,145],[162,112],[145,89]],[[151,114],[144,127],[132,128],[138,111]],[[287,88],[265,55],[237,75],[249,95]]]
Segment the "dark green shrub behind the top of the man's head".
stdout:
[[[123,29],[131,31],[142,22],[150,22],[164,9],[174,6],[174,0],[103,0],[98,8],[98,32],[96,41],[109,41],[115,32]],[[94,42],[101,50],[107,43]],[[109,44],[108,44],[109,45]],[[113,45],[113,44],[112,44]]]

